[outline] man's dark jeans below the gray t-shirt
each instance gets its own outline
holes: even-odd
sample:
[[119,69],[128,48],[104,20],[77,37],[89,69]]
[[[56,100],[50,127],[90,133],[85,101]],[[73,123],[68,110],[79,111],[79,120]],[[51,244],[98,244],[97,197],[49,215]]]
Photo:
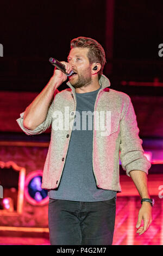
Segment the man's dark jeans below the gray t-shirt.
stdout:
[[51,245],[111,245],[116,198],[77,202],[49,198]]

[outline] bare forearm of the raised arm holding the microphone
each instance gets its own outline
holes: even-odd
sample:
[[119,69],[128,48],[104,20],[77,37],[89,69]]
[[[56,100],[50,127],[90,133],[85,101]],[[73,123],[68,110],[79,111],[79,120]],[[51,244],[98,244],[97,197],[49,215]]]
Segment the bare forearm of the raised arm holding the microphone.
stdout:
[[34,130],[35,127],[46,119],[49,104],[51,103],[57,87],[58,83],[55,78],[52,77],[47,86],[43,88],[42,92],[26,108],[23,121],[24,127],[29,130]]

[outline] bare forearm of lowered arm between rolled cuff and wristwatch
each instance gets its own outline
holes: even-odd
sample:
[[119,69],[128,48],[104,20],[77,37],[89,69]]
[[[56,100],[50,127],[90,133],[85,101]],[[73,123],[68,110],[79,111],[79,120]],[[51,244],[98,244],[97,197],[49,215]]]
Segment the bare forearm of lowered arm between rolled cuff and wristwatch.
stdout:
[[141,198],[150,198],[148,191],[147,174],[141,170],[131,170],[129,173]]

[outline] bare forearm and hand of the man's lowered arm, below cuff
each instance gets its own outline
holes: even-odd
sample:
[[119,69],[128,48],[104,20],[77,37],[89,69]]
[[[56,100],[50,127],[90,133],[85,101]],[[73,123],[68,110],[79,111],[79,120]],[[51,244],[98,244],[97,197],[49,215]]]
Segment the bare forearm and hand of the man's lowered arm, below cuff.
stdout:
[[[141,198],[150,198],[147,184],[147,174],[141,170],[131,170],[130,177],[134,181],[137,191]],[[143,220],[143,227],[140,227]],[[142,202],[142,206],[139,210],[138,220],[136,223],[137,233],[143,234],[149,228],[152,222],[152,206],[148,202]]]

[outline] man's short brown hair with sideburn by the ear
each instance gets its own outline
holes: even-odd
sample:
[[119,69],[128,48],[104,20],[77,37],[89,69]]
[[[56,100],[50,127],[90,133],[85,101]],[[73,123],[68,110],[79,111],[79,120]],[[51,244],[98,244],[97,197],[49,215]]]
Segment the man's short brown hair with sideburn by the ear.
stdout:
[[105,51],[101,44],[92,38],[86,38],[84,36],[79,36],[78,38],[74,38],[71,40],[70,48],[89,48],[87,53],[87,57],[89,62],[92,64],[93,62],[97,62],[101,64],[101,70],[98,71],[98,78],[103,74],[103,68],[106,63]]

